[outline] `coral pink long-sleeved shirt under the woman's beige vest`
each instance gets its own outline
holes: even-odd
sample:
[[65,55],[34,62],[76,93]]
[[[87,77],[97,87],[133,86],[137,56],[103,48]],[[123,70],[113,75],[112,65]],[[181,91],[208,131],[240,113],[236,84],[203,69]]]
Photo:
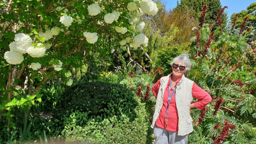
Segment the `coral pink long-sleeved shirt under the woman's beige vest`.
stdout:
[[[181,78],[176,81],[176,84],[181,80]],[[155,98],[157,98],[157,93],[160,87],[160,82],[161,79],[159,79],[152,87],[152,92],[155,95]],[[168,84],[165,88],[164,95],[163,95],[163,106],[161,108],[159,117],[156,121],[156,125],[164,129],[164,119],[165,119],[165,114],[167,110],[167,104],[168,104],[168,93],[169,93],[169,85],[171,82],[171,78],[168,81]],[[173,89],[171,88],[170,94],[173,92]],[[169,109],[168,109],[168,125],[166,127],[166,130],[176,132],[178,131],[178,111],[175,103],[175,93],[173,94],[172,99],[170,100],[169,104]],[[211,101],[211,96],[209,93],[204,91],[201,87],[199,87],[195,82],[193,83],[192,86],[192,96],[193,98],[197,98],[198,101],[194,103],[195,107],[202,110],[207,104],[210,103]]]

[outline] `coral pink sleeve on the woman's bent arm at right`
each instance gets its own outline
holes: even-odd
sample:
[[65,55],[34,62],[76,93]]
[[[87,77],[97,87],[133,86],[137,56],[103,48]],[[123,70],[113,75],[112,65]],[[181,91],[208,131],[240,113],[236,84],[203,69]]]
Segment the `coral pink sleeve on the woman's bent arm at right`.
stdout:
[[209,93],[204,91],[201,87],[199,87],[195,82],[192,86],[192,96],[193,98],[197,98],[198,101],[194,103],[195,107],[202,110],[206,105],[211,102],[211,96]]

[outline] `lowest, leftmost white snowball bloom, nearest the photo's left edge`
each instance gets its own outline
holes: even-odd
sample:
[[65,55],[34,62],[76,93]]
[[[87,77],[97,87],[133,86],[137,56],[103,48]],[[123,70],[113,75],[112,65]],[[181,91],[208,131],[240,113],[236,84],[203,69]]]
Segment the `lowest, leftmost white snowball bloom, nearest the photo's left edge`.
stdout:
[[9,64],[20,64],[24,60],[24,57],[20,52],[6,51],[4,53],[4,59]]

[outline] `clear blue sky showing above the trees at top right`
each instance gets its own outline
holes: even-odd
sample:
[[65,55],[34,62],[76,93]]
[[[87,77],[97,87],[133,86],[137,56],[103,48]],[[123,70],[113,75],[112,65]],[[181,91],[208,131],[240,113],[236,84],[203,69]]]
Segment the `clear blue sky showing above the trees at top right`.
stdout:
[[[173,9],[177,5],[177,0],[163,0],[163,2],[166,2],[166,9]],[[256,2],[256,0],[220,0],[220,2],[222,7],[229,7],[226,9],[226,11],[228,12],[228,16],[230,18],[233,13],[239,13],[241,10],[246,10],[246,8],[251,3]]]

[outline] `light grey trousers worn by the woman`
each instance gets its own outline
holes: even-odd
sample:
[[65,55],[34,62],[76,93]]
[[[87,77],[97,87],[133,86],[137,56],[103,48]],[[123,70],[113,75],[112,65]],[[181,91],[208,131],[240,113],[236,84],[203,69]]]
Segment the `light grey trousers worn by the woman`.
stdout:
[[186,144],[188,134],[180,136],[178,132],[171,132],[155,125],[154,136],[155,144]]

